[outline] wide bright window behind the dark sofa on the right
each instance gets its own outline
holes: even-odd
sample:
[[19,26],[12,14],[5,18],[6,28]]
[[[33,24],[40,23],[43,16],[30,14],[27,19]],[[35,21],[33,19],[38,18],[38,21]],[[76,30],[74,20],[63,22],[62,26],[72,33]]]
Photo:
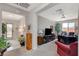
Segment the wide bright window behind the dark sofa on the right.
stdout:
[[75,23],[74,22],[63,23],[62,24],[62,31],[65,31],[65,32],[75,32]]

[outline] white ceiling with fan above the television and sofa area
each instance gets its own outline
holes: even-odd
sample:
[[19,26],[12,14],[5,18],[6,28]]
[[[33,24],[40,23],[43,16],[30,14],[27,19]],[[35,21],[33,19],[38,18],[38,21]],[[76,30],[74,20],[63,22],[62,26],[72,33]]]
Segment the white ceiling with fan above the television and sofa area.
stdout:
[[[55,5],[52,8],[49,8],[43,12],[40,12],[38,15],[45,17],[52,21],[63,21],[68,19],[77,19],[78,18],[78,7],[79,4],[74,3],[63,3]],[[61,15],[59,15],[56,10],[63,9],[65,18],[62,18]]]

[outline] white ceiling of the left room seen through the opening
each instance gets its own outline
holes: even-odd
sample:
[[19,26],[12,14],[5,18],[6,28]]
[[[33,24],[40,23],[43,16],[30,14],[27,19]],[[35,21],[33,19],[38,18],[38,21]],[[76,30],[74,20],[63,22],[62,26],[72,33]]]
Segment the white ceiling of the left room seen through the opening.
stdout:
[[2,11],[2,19],[4,19],[4,20],[21,20],[21,19],[24,19],[24,16]]

